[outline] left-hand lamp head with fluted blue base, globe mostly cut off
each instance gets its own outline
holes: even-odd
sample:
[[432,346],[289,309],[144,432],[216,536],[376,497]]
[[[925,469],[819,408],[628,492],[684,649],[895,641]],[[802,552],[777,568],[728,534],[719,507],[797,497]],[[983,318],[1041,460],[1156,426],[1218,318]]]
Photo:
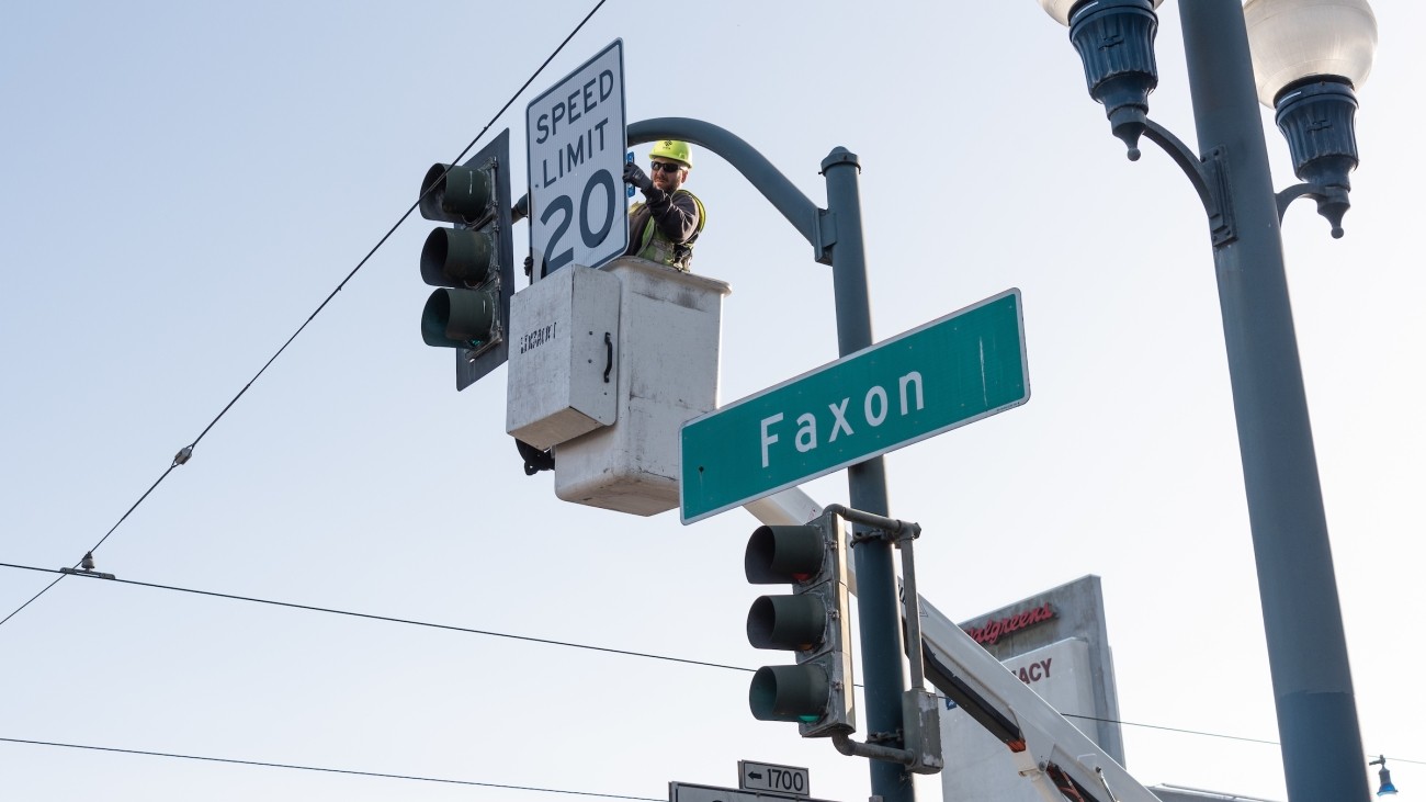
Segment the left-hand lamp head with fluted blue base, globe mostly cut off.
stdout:
[[1109,130],[1139,158],[1139,134],[1149,111],[1149,93],[1158,86],[1154,36],[1162,0],[1040,0],[1060,24],[1070,26],[1070,40],[1084,61],[1089,97],[1104,104]]

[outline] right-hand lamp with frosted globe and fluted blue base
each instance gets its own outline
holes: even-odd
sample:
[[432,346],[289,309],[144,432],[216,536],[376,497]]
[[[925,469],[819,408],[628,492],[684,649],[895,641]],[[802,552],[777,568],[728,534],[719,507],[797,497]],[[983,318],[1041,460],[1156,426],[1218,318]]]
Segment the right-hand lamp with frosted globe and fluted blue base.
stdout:
[[1312,184],[1318,211],[1342,235],[1358,166],[1356,88],[1372,71],[1376,17],[1368,0],[1248,0],[1243,4],[1258,100],[1278,110],[1292,170]]

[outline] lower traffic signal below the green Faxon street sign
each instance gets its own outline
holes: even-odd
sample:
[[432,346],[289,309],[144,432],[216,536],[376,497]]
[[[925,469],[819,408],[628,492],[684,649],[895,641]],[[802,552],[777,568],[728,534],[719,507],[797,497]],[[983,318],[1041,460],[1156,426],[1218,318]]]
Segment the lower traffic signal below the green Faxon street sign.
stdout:
[[841,518],[801,527],[759,527],[743,558],[754,585],[790,584],[791,595],[759,597],[747,611],[747,641],[789,649],[797,665],[759,668],[747,704],[761,721],[794,721],[804,738],[856,732],[847,541]]

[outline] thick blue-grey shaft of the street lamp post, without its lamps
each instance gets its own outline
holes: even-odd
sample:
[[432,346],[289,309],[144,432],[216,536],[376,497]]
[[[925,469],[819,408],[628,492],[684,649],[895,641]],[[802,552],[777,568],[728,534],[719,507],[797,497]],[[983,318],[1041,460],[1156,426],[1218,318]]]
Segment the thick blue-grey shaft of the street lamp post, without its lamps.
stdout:
[[1201,154],[1236,241],[1214,251],[1282,763],[1292,802],[1370,798],[1242,0],[1178,4]]

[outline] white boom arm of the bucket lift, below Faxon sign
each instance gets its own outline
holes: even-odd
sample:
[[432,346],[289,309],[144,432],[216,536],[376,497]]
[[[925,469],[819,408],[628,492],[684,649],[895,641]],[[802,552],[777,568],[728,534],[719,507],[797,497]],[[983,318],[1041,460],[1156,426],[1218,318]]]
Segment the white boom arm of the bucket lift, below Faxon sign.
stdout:
[[[799,525],[821,515],[821,505],[800,488],[790,488],[743,505],[767,525]],[[848,585],[857,592],[856,561],[847,561]],[[1159,802],[1109,758],[1088,735],[1079,732],[1028,685],[1005,669],[954,621],[920,597],[921,641],[928,658],[950,669],[971,694],[1020,729],[1024,749],[1014,752],[1020,773],[1030,779],[1047,802],[1064,802],[1050,773],[1058,769],[1072,779],[1087,799],[1099,802]],[[928,675],[933,672],[928,666]],[[945,692],[945,688],[941,688]]]

